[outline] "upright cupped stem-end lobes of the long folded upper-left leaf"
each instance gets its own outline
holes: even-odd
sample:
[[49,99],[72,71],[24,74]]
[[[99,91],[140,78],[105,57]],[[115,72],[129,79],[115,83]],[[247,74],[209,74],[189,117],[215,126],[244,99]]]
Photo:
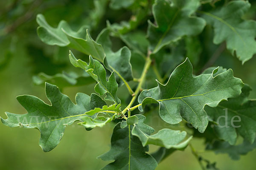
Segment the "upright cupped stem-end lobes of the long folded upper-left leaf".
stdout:
[[123,82],[133,80],[130,63],[131,51],[125,46],[113,52],[109,32],[108,28],[103,29],[96,39],[96,42],[102,44],[105,51],[104,65],[110,71],[114,71]]

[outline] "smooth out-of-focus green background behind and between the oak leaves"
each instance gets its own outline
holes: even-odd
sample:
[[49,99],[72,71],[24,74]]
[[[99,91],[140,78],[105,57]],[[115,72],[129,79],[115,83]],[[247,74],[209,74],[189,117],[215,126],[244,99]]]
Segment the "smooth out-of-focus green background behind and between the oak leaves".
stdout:
[[[12,6],[12,4],[17,3]],[[34,4],[34,5],[33,5]],[[31,7],[32,6],[32,7]],[[6,119],[5,111],[11,113],[26,113],[26,110],[15,99],[18,95],[29,94],[38,96],[45,102],[47,98],[44,88],[36,86],[32,82],[32,76],[39,72],[56,74],[64,69],[73,69],[67,62],[67,48],[58,48],[45,45],[37,37],[35,21],[36,14],[42,13],[52,26],[57,26],[60,20],[67,20],[76,30],[81,26],[81,18],[87,17],[90,12],[90,2],[82,0],[57,2],[54,0],[33,1],[10,0],[0,1],[0,116]],[[31,9],[32,8],[32,9]],[[253,4],[248,16],[255,17],[256,5]],[[27,12],[30,10],[29,18]],[[93,38],[105,27],[105,20],[112,19],[116,15],[108,14],[95,29]],[[21,18],[21,19],[20,19]],[[125,19],[121,16],[118,20]],[[17,23],[20,20],[21,23]],[[84,21],[90,23],[90,20]],[[18,24],[14,28],[14,23]],[[7,30],[7,31],[6,31]],[[54,55],[55,51],[63,51],[63,55]],[[55,56],[55,57],[52,57]],[[56,57],[57,56],[57,57]],[[86,58],[86,56],[80,56]],[[253,92],[250,98],[256,98],[256,57],[241,65],[238,59],[224,51],[213,66],[221,65],[224,68],[232,68],[235,77],[248,83]],[[125,91],[122,87],[119,93]],[[64,88],[64,94],[74,101],[77,92],[89,94],[93,92],[93,85]],[[151,113],[155,120],[158,119],[157,111]],[[157,128],[157,127],[156,127]],[[113,124],[103,128],[86,131],[78,125],[68,126],[65,135],[58,146],[44,153],[38,145],[40,133],[36,129],[10,128],[0,123],[0,170],[98,170],[108,162],[96,159],[110,148],[110,137]],[[192,144],[200,151],[204,150],[204,141],[194,138]],[[157,147],[151,147],[150,152]],[[234,161],[227,154],[218,154],[206,151],[200,154],[204,158],[217,162],[221,170],[255,170],[256,150],[241,156],[239,161]],[[199,170],[198,161],[192,155],[189,147],[184,152],[175,152],[164,160],[157,170]]]

